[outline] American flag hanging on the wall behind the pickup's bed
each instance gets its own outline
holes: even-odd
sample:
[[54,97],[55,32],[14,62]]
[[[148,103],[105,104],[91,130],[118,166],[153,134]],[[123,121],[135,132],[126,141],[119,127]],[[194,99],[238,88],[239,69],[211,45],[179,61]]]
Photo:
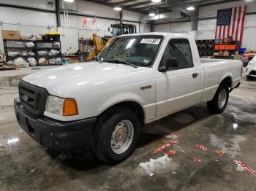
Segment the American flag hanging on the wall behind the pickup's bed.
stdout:
[[245,15],[246,6],[218,10],[215,39],[231,36],[233,40],[242,42]]

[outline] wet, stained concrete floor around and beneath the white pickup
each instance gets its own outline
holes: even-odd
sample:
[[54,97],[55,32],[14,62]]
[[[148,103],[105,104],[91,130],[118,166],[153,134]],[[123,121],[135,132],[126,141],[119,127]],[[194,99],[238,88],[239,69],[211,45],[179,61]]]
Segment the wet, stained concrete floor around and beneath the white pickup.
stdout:
[[[256,170],[256,82],[243,79],[222,114],[198,104],[146,125],[132,156],[109,166],[89,153],[53,159],[21,130],[12,101],[30,72],[0,71],[0,190],[256,190],[256,175],[233,163]],[[178,141],[176,154],[153,153],[165,140]]]

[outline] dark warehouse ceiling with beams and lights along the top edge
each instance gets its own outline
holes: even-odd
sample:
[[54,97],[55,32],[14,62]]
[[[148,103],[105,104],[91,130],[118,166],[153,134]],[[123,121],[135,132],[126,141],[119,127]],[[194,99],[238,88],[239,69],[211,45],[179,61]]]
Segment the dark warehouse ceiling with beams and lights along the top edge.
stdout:
[[[181,12],[190,15],[186,7],[193,5],[196,7],[211,4],[221,4],[230,0],[162,0],[160,2],[152,2],[151,0],[87,0],[97,4],[105,4],[111,7],[122,7],[130,11],[148,14],[149,12],[171,12],[172,9],[178,9]],[[238,1],[238,0],[235,0]]]

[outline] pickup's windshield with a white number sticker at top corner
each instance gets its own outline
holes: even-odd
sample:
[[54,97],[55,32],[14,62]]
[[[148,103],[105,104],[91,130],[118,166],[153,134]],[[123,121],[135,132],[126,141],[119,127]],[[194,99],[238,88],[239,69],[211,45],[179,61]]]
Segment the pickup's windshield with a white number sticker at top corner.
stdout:
[[100,53],[99,61],[150,67],[163,37],[161,35],[117,37]]

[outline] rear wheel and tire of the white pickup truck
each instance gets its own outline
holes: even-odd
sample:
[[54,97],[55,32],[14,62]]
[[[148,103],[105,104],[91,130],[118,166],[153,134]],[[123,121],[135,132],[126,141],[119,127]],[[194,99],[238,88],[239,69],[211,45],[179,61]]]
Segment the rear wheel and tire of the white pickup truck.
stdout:
[[[223,91],[225,91],[225,98],[222,99],[222,102],[219,103],[220,94],[223,95]],[[223,95],[224,96],[224,95]],[[217,92],[214,95],[214,98],[211,101],[207,101],[207,108],[210,112],[214,114],[220,114],[224,111],[227,106],[229,98],[229,89],[226,83],[222,83],[219,85]]]

